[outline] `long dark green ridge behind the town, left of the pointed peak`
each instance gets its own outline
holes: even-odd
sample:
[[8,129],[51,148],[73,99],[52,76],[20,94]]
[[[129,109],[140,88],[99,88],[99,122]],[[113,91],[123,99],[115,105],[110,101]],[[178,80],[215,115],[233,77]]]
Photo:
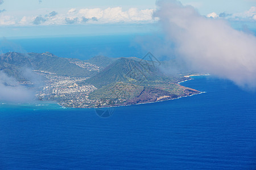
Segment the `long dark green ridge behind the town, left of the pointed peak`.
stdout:
[[22,69],[24,68],[47,71],[61,76],[88,77],[97,73],[97,71],[89,71],[76,63],[85,63],[84,61],[79,59],[61,58],[48,52],[40,54],[10,52],[1,54],[0,61],[0,70],[3,70],[8,75],[18,79],[24,79],[21,74]]

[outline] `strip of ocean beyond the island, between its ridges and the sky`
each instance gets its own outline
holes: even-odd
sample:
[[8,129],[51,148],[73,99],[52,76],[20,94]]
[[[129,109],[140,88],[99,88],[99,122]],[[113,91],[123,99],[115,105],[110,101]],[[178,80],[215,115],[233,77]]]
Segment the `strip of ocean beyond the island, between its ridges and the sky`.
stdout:
[[107,57],[139,57],[147,51],[139,48],[134,41],[143,34],[81,36],[81,37],[46,37],[34,39],[2,39],[2,53],[15,51],[20,53],[51,52],[59,57],[89,59],[94,56]]

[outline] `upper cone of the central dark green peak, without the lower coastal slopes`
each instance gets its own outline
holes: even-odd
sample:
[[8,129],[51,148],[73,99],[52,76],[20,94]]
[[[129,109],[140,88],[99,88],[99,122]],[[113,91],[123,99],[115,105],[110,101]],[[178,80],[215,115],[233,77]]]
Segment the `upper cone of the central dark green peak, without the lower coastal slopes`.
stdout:
[[119,58],[86,82],[100,88],[115,82],[141,84],[168,80],[171,82],[176,79],[164,75],[158,67],[148,61]]

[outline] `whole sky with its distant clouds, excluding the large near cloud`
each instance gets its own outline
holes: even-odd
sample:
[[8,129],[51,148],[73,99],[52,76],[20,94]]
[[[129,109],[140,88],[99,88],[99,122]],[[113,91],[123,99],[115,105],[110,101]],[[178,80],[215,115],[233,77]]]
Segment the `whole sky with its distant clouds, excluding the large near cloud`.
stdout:
[[[193,6],[201,15],[209,18],[247,23],[249,27],[254,27],[256,22],[256,0],[180,2]],[[0,36],[86,35],[129,30],[150,32],[158,29],[158,18],[154,16],[157,9],[155,0],[0,0]],[[148,27],[141,29],[138,26],[141,24]],[[85,30],[73,32],[72,27],[77,25]],[[64,28],[67,30],[64,31]]]

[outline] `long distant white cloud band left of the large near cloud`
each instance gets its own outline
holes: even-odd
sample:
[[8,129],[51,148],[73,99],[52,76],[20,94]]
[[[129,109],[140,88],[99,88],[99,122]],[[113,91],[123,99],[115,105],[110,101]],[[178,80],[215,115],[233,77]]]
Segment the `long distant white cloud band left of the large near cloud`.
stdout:
[[[54,11],[57,15],[40,12],[38,15],[23,15],[12,17],[7,14],[0,14],[1,25],[64,25],[64,24],[88,24],[88,23],[117,23],[117,22],[155,22],[152,18],[154,9],[138,10],[129,8],[123,10],[122,7],[109,8],[71,8],[67,12]],[[40,19],[40,20],[39,20]],[[75,22],[72,22],[75,21]],[[86,20],[86,22],[85,22]]]

